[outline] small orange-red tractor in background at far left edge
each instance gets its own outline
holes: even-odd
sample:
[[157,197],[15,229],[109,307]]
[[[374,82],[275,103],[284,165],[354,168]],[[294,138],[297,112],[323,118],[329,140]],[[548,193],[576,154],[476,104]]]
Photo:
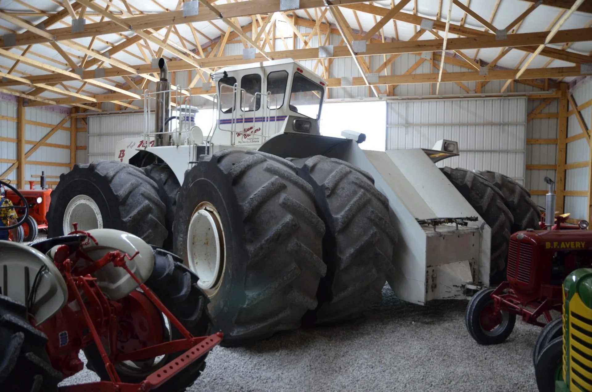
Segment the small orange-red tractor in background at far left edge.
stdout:
[[[29,189],[18,189],[27,200],[29,205],[29,215],[25,219],[25,223],[22,224],[22,240],[21,236],[17,239],[17,242],[31,242],[37,238],[39,229],[47,229],[47,210],[49,210],[49,204],[52,201],[52,189],[47,189],[45,184],[45,174],[41,172],[41,189],[35,188],[35,182],[29,181]],[[24,207],[22,201],[18,195],[11,189],[6,189],[4,197],[7,198],[14,204],[15,210],[18,216],[24,215]],[[13,239],[14,240],[14,239]]]

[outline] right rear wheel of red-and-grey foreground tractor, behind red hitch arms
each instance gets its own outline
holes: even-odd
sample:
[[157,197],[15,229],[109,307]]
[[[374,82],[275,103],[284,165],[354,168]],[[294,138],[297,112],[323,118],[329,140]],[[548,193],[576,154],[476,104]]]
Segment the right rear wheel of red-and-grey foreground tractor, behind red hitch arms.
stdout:
[[[163,249],[155,249],[155,265],[146,281],[147,287],[162,301],[166,308],[193,336],[207,335],[210,318],[205,312],[205,295],[197,287],[197,276],[192,274],[182,260]],[[120,320],[118,348],[131,352],[143,346],[152,346],[168,340],[184,339],[181,332],[165,318],[144,294],[139,291],[124,298],[131,306],[130,314]],[[169,325],[167,325],[169,324]],[[130,329],[130,326],[143,326]],[[127,328],[126,328],[127,326]],[[149,326],[149,328],[146,328]],[[131,339],[130,339],[131,336]],[[146,339],[146,338],[150,339]],[[134,346],[135,345],[135,346]],[[105,349],[108,350],[106,346]],[[110,380],[101,354],[94,343],[84,349],[86,367],[101,377]],[[124,361],[115,364],[115,370],[124,383],[141,383],[148,375],[162,368],[184,352],[175,352],[146,361]],[[165,384],[156,388],[161,392],[181,392],[191,386],[205,368],[206,355],[176,374]]]

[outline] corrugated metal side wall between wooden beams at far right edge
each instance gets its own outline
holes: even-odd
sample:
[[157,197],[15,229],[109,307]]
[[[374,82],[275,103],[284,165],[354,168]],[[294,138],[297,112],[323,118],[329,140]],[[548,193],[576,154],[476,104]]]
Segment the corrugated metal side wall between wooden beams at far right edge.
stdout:
[[[576,105],[584,104],[592,99],[592,80],[588,77],[586,81],[578,83],[570,91]],[[571,104],[568,110],[571,110]],[[580,111],[585,127],[590,129],[592,108],[587,107]],[[567,137],[577,136],[582,133],[580,123],[578,123],[575,114],[567,119]],[[590,147],[586,139],[578,139],[575,142],[567,143],[566,163],[587,162],[590,159]],[[566,191],[587,191],[590,182],[588,168],[567,169],[565,171],[565,190]],[[571,214],[575,219],[590,219],[588,217],[588,198],[586,196],[566,196],[565,212]]]

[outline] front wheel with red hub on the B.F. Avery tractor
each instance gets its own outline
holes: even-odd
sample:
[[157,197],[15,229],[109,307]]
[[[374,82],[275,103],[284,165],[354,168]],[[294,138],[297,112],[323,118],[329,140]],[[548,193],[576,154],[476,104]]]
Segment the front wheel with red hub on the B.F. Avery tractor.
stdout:
[[494,287],[475,294],[466,308],[466,329],[480,345],[497,345],[510,336],[516,323],[516,314],[496,309],[491,293]]

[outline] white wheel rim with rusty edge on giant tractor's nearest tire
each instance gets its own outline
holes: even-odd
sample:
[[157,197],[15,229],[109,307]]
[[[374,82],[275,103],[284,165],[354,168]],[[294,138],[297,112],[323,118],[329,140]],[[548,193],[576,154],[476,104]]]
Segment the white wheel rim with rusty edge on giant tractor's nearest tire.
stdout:
[[200,278],[197,285],[211,294],[219,287],[224,270],[224,231],[210,203],[200,203],[189,221],[187,256],[189,269]]

